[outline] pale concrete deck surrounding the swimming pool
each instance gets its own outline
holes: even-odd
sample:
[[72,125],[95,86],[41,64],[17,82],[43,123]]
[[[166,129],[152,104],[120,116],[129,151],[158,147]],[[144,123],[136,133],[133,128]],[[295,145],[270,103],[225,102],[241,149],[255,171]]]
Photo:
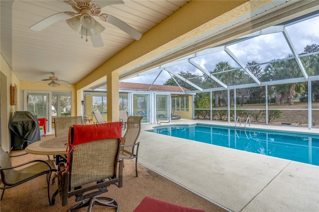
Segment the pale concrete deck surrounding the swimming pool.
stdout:
[[[160,125],[197,122],[234,126],[192,119]],[[227,210],[319,212],[319,166],[145,131],[153,126],[159,125],[142,125],[139,163]],[[254,123],[250,127],[319,134],[318,127]]]

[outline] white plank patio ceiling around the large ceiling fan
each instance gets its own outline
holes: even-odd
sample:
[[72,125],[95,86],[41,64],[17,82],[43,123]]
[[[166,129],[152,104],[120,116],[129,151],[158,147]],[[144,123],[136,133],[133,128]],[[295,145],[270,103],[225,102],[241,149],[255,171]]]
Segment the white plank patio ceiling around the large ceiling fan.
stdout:
[[[189,0],[124,0],[106,6],[113,15],[145,34]],[[94,1],[99,5],[99,0]],[[62,11],[73,11],[62,0],[1,0],[1,55],[20,81],[37,82],[56,73],[60,80],[77,83],[135,40],[116,26],[99,20],[104,46],[94,48],[62,19],[42,31],[29,26]],[[66,18],[67,19],[67,18]]]

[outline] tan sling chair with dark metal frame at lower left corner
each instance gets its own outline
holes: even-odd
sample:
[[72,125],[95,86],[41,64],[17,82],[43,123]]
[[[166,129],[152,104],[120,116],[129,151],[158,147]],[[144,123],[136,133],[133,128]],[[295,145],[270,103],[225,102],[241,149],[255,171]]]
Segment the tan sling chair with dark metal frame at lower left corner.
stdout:
[[[46,160],[46,161],[32,160],[32,161],[28,161],[16,166],[12,166],[9,155],[2,148],[0,149],[1,149],[0,150],[1,151],[0,152],[1,154],[0,155],[1,156],[0,174],[1,174],[1,182],[3,184],[3,187],[2,186],[0,187],[0,189],[3,190],[1,195],[1,200],[3,198],[5,189],[15,187],[29,180],[32,180],[36,177],[46,174],[46,183],[48,185],[48,189],[47,189],[48,200],[49,200],[49,204],[51,205],[49,185],[50,185],[51,174],[53,171],[52,167],[55,167],[54,161],[53,160]],[[27,164],[31,164],[31,165],[28,165],[24,168],[20,168]]]

